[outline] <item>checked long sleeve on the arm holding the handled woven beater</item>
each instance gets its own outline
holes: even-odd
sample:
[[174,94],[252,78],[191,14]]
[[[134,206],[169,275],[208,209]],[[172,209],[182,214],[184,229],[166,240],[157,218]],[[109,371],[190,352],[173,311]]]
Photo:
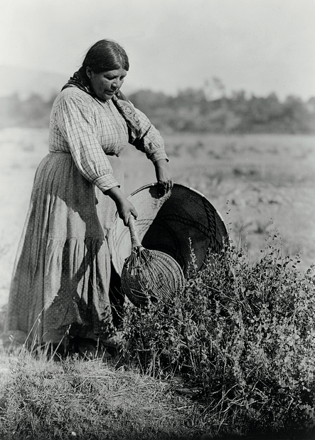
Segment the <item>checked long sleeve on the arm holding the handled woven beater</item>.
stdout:
[[97,136],[97,115],[77,93],[64,95],[58,102],[58,128],[80,173],[102,192],[119,186]]

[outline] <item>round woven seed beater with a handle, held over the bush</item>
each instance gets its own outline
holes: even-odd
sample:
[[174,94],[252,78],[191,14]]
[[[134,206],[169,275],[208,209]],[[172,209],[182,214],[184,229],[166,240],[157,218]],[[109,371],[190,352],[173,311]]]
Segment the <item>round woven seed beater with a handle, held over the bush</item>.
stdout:
[[132,216],[129,229],[132,251],[122,268],[122,290],[137,306],[156,299],[168,303],[185,285],[181,266],[167,253],[141,245]]

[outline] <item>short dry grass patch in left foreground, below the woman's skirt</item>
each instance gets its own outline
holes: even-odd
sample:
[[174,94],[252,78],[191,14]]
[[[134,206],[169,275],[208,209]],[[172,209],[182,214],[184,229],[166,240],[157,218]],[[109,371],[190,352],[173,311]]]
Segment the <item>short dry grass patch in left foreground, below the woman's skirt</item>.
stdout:
[[170,382],[117,362],[53,362],[28,352],[6,360],[0,420],[8,439],[175,440],[202,432],[200,407]]

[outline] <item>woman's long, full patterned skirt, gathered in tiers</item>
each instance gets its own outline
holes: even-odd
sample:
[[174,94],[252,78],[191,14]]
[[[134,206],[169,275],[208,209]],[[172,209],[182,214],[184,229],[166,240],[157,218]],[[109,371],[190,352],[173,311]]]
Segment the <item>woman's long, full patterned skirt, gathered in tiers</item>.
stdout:
[[[121,162],[109,159],[122,188]],[[78,172],[71,154],[43,159],[18,246],[6,337],[43,344],[112,335],[106,235],[115,212],[114,201]]]

